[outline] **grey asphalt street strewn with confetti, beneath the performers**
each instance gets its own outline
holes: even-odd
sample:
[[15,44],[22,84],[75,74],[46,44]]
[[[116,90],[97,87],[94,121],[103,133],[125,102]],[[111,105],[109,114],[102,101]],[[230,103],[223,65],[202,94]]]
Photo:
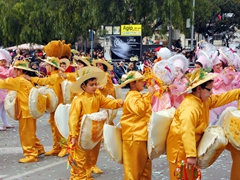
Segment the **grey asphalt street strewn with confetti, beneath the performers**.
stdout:
[[[123,89],[123,97],[127,89]],[[122,111],[118,111],[118,117],[114,120],[119,122]],[[45,147],[45,151],[51,149],[52,135],[48,123],[49,114],[43,115],[37,121],[37,137]],[[67,158],[57,156],[40,156],[36,163],[18,163],[23,156],[19,142],[18,122],[8,120],[15,128],[0,131],[0,180],[67,180],[70,177],[70,168],[67,169]],[[0,123],[0,126],[2,124]],[[205,180],[228,180],[231,169],[231,156],[224,151],[217,161],[207,169],[202,170],[202,179]],[[103,174],[93,177],[96,180],[121,180],[123,179],[123,166],[111,160],[104,149],[103,143],[99,154],[98,167]],[[152,180],[168,180],[168,162],[163,155],[153,160]]]

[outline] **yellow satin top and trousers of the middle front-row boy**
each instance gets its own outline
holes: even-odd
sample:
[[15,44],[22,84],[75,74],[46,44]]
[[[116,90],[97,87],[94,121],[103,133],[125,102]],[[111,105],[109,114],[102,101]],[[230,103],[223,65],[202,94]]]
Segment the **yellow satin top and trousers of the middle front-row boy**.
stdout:
[[120,123],[125,180],[151,179],[152,161],[147,152],[151,101],[151,94],[141,94],[138,91],[129,91],[124,101]]

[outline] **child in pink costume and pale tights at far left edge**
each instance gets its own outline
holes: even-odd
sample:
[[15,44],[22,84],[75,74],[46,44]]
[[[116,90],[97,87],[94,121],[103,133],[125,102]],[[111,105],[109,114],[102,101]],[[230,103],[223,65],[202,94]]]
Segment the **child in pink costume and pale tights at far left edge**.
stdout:
[[[6,79],[8,77],[14,77],[13,68],[6,67],[11,63],[10,53],[5,49],[0,49],[0,79]],[[3,122],[3,127],[0,127],[0,131],[5,131],[6,128],[13,128],[14,126],[7,121],[7,114],[4,109],[4,99],[7,95],[6,89],[0,89],[0,116]]]

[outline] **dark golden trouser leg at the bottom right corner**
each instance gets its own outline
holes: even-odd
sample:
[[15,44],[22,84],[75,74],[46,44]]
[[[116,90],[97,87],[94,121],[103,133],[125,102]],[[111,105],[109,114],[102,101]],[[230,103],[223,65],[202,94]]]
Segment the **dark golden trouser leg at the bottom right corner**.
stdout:
[[226,149],[231,152],[232,156],[232,169],[231,169],[231,179],[230,180],[240,180],[240,151],[234,148],[231,143],[228,143]]

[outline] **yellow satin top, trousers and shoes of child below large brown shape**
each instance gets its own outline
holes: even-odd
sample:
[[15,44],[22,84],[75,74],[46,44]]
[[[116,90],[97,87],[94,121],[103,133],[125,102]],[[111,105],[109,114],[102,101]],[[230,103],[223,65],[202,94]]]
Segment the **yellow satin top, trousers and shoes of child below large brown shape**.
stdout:
[[[50,88],[54,90],[58,97],[58,104],[63,103],[62,97],[62,89],[61,83],[63,79],[58,75],[59,71],[51,72],[51,75],[45,78],[38,78],[38,77],[31,77],[31,81],[38,85],[48,85]],[[67,152],[67,145],[63,144],[60,146],[61,139],[63,138],[62,135],[59,133],[58,128],[55,124],[54,120],[54,112],[50,113],[49,123],[52,130],[52,137],[53,137],[53,147],[52,150],[46,152],[45,155],[59,155],[60,157],[66,155]],[[60,153],[60,151],[62,151]]]

